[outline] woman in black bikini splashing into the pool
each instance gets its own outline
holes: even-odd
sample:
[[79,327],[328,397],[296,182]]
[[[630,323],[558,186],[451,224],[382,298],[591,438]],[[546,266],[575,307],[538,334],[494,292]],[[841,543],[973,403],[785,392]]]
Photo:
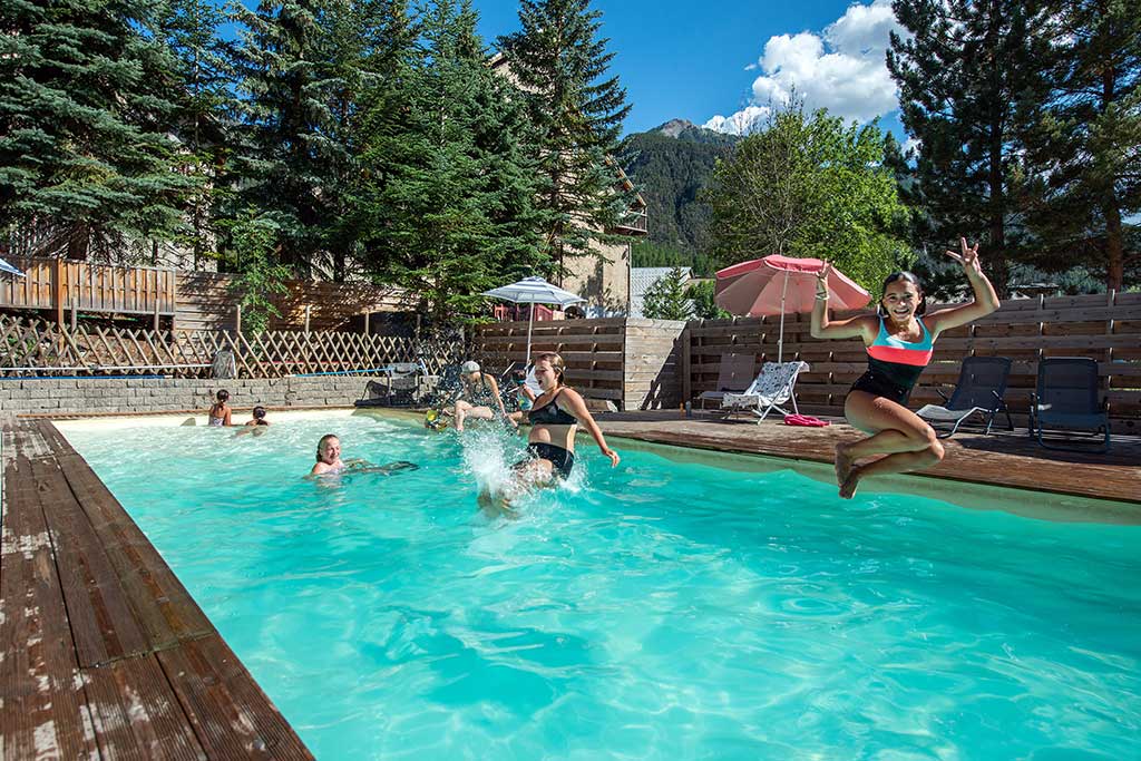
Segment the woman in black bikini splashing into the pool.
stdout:
[[606,444],[602,430],[586,408],[582,396],[566,386],[563,375],[566,365],[555,353],[541,354],[535,361],[535,379],[542,394],[535,398],[527,413],[531,435],[527,437],[527,459],[512,468],[513,479],[497,497],[484,492],[479,504],[485,511],[510,512],[510,500],[528,486],[550,486],[567,478],[574,468],[574,438],[581,423],[594,438],[598,448],[610,460],[610,467],[621,461],[618,453]]

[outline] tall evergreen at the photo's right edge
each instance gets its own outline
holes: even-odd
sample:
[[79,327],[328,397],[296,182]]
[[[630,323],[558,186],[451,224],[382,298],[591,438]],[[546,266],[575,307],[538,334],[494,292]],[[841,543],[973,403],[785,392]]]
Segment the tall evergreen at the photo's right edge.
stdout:
[[1027,183],[1034,262],[1076,264],[1120,290],[1127,220],[1141,212],[1141,6],[1126,0],[1051,0],[1050,105],[1036,112]]

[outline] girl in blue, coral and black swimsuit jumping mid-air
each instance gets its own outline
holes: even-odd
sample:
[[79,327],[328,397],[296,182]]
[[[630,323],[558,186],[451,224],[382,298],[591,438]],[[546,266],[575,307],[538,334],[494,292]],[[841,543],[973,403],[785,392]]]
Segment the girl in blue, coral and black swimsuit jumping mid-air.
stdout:
[[[989,315],[998,308],[994,285],[979,266],[979,245],[960,238],[960,253],[947,251],[963,266],[974,291],[974,300],[926,315],[926,299],[920,280],[911,273],[895,273],[883,283],[883,299],[876,315],[828,319],[828,272],[817,276],[812,309],[814,338],[864,339],[868,369],[844,399],[848,422],[867,438],[836,445],[836,481],[840,496],[851,499],[860,479],[930,468],[942,460],[942,444],[934,430],[908,410],[907,397],[920,373],[931,362],[932,345],[939,334]],[[880,456],[857,464],[863,458]]]

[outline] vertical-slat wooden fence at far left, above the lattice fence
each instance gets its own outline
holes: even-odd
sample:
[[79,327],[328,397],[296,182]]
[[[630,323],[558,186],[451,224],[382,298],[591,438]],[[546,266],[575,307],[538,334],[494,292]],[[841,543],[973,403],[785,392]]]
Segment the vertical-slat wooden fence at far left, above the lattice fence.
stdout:
[[67,259],[14,259],[25,277],[0,278],[0,308],[129,315],[175,314],[175,270],[115,267]]

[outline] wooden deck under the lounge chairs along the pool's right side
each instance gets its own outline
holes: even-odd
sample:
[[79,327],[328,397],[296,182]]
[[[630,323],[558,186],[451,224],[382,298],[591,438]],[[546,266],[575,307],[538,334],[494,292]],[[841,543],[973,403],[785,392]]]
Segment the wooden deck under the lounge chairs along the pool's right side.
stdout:
[[[836,442],[860,436],[842,420],[828,420],[833,424],[827,428],[790,428],[779,419],[758,426],[754,420],[725,421],[699,413],[694,418],[680,418],[673,411],[598,416],[607,436],[810,462],[832,462]],[[1138,437],[1115,437],[1109,454],[1044,450],[1027,437],[1026,429],[990,436],[958,432],[944,439],[944,444],[946,459],[917,476],[1125,502],[1139,505],[1141,519],[1141,439]]]

